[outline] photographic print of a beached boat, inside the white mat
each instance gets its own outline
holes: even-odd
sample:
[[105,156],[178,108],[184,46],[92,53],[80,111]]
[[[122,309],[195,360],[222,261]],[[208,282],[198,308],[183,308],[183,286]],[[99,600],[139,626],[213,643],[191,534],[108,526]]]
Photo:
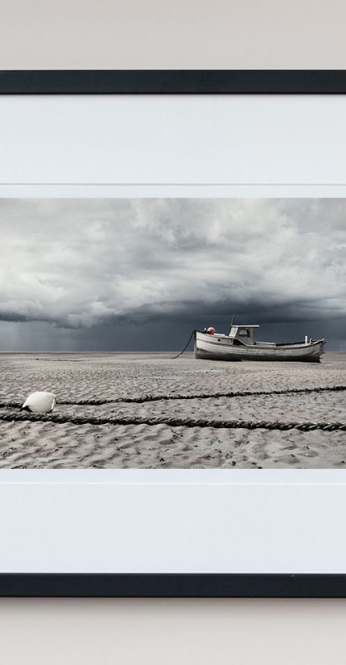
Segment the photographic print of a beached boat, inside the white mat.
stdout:
[[346,199],[0,199],[0,468],[346,467]]

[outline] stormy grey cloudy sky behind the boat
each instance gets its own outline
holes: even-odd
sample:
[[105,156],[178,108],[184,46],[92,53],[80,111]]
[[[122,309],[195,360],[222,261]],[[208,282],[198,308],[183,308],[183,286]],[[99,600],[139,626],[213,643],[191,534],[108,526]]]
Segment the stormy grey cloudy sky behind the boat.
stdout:
[[346,350],[346,199],[0,199],[0,351]]

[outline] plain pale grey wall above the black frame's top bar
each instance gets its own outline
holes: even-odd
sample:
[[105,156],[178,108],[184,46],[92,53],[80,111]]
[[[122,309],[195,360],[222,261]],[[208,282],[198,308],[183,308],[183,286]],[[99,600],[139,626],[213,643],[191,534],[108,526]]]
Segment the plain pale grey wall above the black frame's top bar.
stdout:
[[343,69],[342,0],[1,0],[1,69]]

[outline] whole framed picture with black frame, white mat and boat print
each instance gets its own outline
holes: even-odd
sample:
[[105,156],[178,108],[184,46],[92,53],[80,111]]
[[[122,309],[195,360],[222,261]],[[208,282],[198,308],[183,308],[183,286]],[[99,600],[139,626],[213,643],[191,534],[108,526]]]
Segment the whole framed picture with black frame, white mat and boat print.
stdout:
[[1,596],[346,596],[346,74],[0,72]]

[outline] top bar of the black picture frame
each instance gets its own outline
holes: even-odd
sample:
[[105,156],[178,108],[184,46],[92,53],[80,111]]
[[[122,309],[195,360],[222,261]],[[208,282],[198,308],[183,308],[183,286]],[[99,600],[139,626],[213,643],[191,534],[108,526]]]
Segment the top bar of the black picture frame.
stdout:
[[344,70],[0,71],[1,95],[345,94]]

